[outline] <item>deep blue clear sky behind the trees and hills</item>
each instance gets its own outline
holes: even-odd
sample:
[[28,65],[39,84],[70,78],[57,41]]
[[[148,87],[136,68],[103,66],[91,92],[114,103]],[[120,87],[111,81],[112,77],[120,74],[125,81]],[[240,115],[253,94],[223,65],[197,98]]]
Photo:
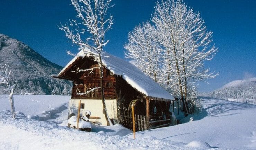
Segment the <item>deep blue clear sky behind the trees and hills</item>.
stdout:
[[[0,33],[18,39],[48,60],[65,66],[72,59],[66,50],[77,51],[57,24],[75,19],[69,0],[0,0]],[[199,11],[219,52],[205,62],[219,76],[199,84],[200,92],[222,87],[232,80],[255,77],[256,74],[256,1],[255,0],[185,0]],[[150,19],[154,0],[113,0],[114,17],[110,42],[105,50],[124,58],[124,44],[134,27]]]

